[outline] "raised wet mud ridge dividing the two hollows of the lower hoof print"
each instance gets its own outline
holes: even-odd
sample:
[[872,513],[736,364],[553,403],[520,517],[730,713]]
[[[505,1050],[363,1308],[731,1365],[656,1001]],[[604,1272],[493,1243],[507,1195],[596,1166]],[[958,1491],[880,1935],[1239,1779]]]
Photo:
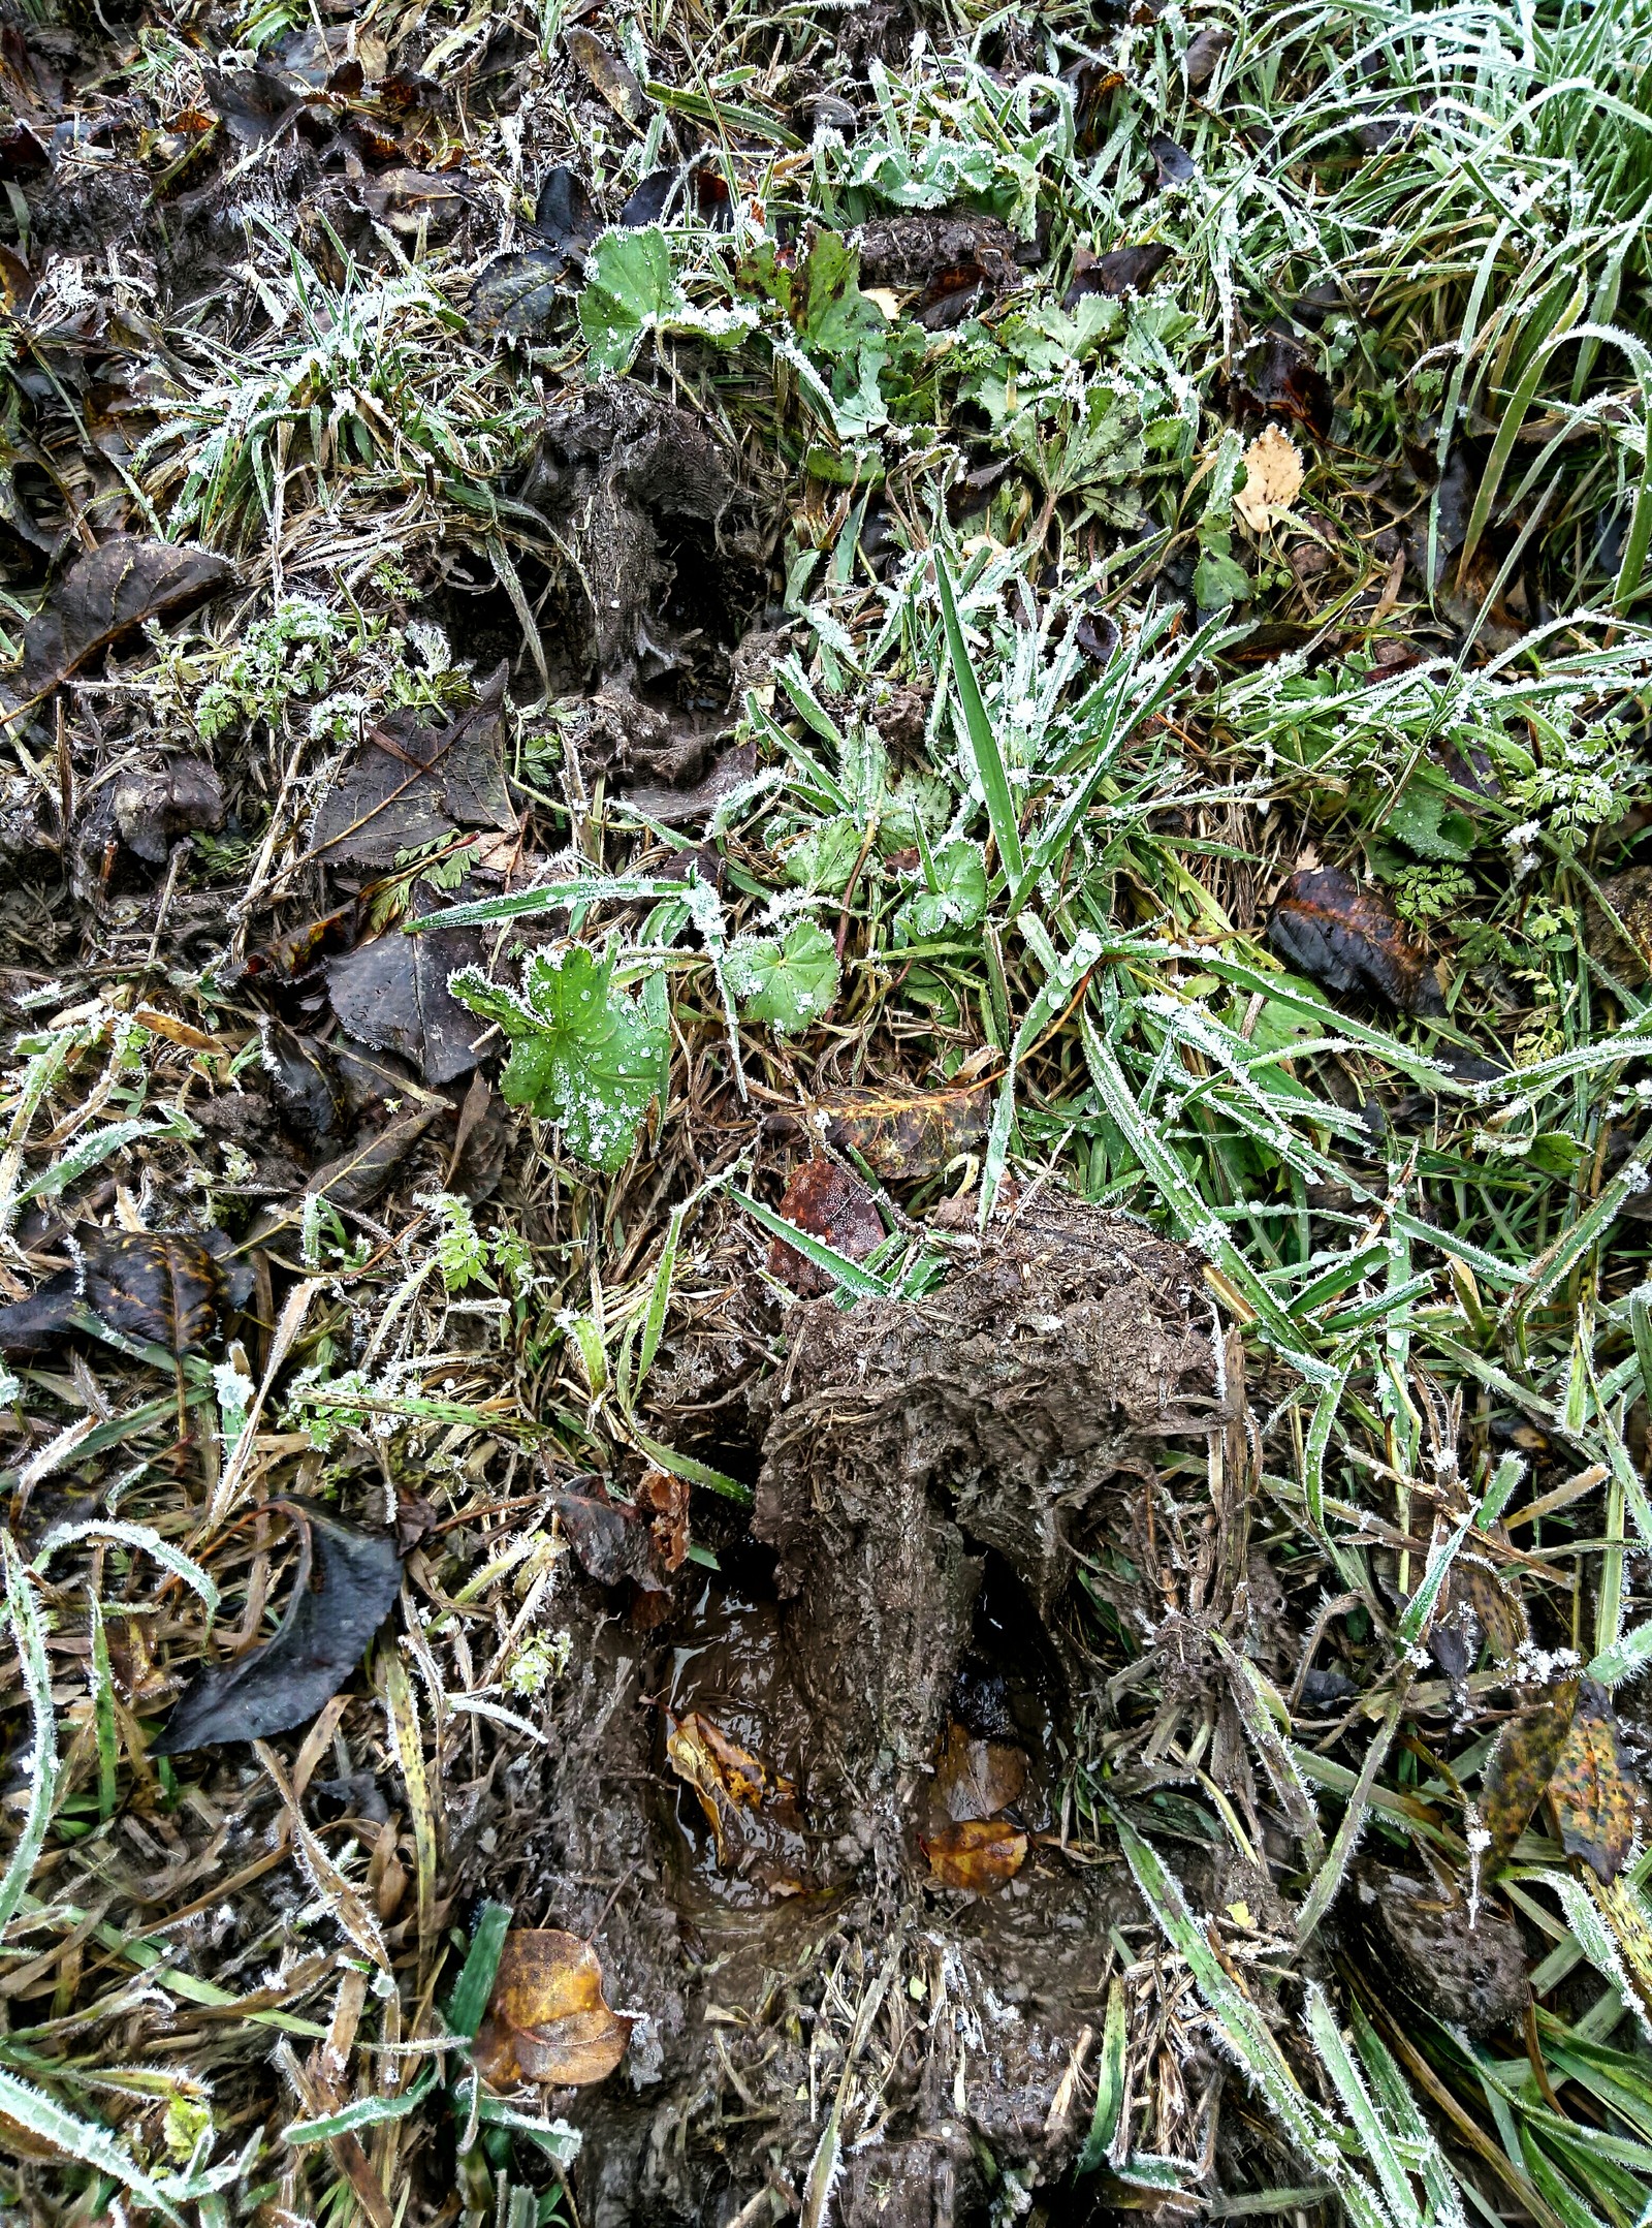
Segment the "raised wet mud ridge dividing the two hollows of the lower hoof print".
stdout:
[[1211,1426],[1213,1335],[1187,1250],[1066,1201],[989,1239],[924,1301],[799,1310],[759,1393],[773,1421],[753,1531],[793,1604],[813,1807],[850,1820],[839,1860],[871,1854],[884,1885],[911,1860],[984,1551],[1058,1653],[1073,1528],[1138,1544],[1149,1566],[1153,1453]]

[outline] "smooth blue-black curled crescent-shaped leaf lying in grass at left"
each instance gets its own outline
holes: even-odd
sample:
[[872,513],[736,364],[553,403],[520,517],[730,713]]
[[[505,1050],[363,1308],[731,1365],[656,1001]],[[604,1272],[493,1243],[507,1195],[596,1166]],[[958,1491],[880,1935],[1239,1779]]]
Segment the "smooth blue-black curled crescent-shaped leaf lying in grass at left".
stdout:
[[314,1502],[265,1504],[298,1526],[298,1573],[281,1629],[185,1689],[151,1756],[265,1740],[307,1724],[343,1687],[401,1593],[394,1533],[365,1533]]

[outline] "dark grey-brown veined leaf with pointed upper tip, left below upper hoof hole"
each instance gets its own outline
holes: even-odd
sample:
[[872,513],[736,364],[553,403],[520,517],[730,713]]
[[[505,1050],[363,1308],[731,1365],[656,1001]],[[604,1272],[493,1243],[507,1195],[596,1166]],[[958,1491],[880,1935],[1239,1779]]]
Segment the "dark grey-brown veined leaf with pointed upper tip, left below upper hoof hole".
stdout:
[[316,851],[354,867],[394,867],[396,853],[454,829],[512,833],[503,769],[508,666],[496,666],[474,704],[436,731],[412,713],[390,713],[372,729],[356,762],[316,820]]

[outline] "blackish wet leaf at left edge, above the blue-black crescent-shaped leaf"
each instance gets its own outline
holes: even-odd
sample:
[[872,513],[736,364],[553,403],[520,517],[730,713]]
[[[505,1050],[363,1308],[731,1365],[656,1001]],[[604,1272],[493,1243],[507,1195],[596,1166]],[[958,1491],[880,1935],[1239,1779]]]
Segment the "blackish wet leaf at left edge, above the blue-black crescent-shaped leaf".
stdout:
[[225,1297],[223,1270],[198,1239],[94,1230],[78,1268],[0,1308],[0,1352],[38,1355],[96,1315],[127,1339],[189,1355],[212,1337]]

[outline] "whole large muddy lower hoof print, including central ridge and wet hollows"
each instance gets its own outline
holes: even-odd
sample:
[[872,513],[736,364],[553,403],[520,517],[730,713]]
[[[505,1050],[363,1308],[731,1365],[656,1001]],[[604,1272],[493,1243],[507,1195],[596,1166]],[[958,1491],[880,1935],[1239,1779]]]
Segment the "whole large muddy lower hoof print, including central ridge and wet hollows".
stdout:
[[[1033,1205],[920,1301],[795,1310],[753,1395],[750,1537],[675,1626],[579,1589],[517,1923],[594,1927],[646,2014],[619,2074],[552,2099],[594,2228],[802,2190],[835,2097],[850,2228],[984,2217],[984,2154],[1029,2188],[1066,2170],[1109,1927],[1138,1916],[1060,1847],[1071,1548],[1149,1566],[1156,1450],[1220,1426],[1218,1375],[1189,1252]],[[982,1894],[924,1858],[975,1809],[1026,1847]]]

